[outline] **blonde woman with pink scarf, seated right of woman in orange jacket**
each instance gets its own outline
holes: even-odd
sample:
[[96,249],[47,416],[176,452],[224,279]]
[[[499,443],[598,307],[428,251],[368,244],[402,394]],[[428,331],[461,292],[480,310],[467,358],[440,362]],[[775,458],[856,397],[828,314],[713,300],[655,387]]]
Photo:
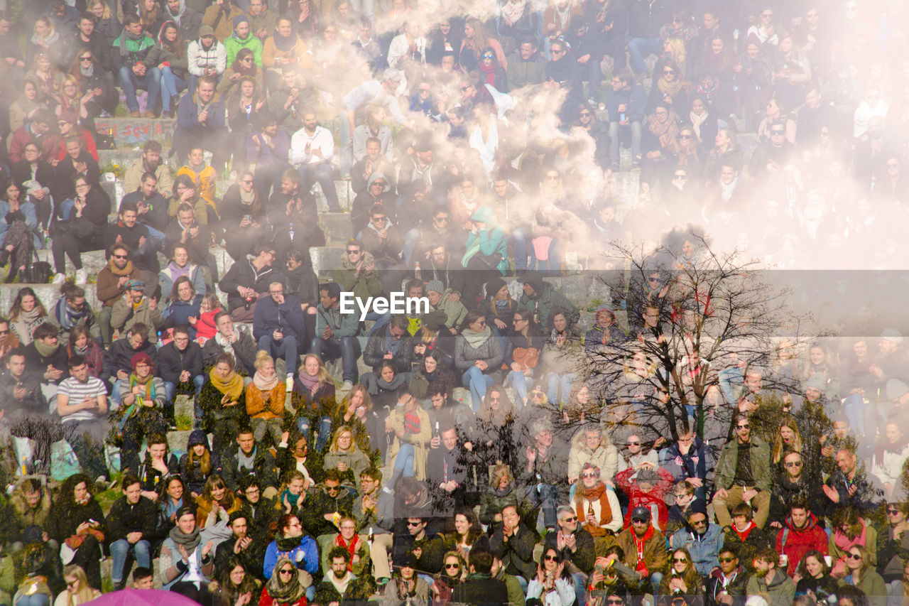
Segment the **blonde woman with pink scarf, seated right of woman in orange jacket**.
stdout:
[[308,353],[303,359],[300,371],[294,380],[291,403],[297,414],[297,429],[305,435],[318,424],[318,438],[315,449],[322,452],[331,437],[332,411],[335,401],[335,379],[325,369],[325,363],[315,353]]

